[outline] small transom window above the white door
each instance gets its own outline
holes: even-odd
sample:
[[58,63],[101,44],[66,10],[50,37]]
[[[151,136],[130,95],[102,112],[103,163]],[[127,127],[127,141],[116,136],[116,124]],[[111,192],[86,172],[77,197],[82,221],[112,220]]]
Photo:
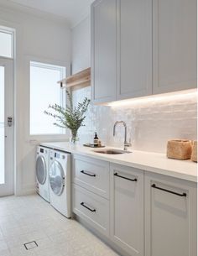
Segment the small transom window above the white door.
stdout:
[[13,32],[0,28],[0,56],[13,58]]

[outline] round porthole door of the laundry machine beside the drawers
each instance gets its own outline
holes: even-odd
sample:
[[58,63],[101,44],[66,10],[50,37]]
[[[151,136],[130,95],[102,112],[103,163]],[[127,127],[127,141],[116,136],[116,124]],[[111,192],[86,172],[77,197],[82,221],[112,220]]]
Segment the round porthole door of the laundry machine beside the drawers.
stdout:
[[50,166],[50,187],[55,195],[60,196],[65,185],[65,174],[62,166],[56,160]]

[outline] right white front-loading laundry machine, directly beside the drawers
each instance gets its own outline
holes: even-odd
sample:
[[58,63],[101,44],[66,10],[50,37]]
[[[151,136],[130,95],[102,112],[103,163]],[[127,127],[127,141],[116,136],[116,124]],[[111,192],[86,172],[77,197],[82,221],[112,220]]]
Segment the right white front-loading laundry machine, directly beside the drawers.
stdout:
[[50,150],[50,204],[70,217],[70,153]]

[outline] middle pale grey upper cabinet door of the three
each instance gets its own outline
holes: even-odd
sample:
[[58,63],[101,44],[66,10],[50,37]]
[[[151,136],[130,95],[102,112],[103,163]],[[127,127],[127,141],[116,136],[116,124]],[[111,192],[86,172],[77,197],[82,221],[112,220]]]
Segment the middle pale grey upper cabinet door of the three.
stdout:
[[152,0],[117,1],[117,100],[152,94]]

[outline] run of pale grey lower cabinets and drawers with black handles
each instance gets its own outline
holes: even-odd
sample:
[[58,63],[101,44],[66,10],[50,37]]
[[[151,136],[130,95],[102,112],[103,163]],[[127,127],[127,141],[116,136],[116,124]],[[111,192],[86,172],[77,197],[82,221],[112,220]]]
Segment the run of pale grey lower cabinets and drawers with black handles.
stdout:
[[197,255],[195,182],[73,159],[73,212],[120,255]]

